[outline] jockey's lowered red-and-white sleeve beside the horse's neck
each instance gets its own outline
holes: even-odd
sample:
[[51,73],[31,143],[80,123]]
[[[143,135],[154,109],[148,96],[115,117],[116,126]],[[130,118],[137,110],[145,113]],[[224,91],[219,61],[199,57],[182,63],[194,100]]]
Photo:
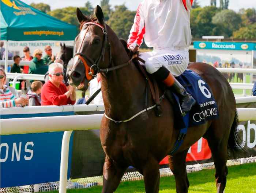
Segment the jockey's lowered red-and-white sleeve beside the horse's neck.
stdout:
[[145,19],[142,10],[142,3],[140,3],[134,18],[134,23],[130,31],[129,39],[127,41],[129,47],[133,49],[136,46],[140,46],[142,44],[144,34]]

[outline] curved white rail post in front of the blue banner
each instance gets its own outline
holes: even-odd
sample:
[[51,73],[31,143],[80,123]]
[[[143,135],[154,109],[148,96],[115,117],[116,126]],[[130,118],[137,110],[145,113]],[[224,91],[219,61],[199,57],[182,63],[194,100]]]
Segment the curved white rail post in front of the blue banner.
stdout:
[[68,149],[69,149],[69,139],[71,134],[72,134],[72,131],[65,131],[62,138],[59,193],[66,193],[67,191]]

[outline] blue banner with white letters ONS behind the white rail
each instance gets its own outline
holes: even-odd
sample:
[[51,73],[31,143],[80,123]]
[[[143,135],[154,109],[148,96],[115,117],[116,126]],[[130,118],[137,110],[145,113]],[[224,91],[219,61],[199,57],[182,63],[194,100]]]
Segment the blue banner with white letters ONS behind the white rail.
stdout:
[[[42,116],[42,114],[26,114],[26,117],[38,117],[38,115]],[[74,112],[44,113],[44,115],[64,116],[74,115]],[[19,118],[25,117],[25,115],[16,114],[11,117]],[[5,118],[8,116],[6,115]],[[59,181],[63,133],[60,131],[1,135],[1,188]],[[73,135],[69,142],[68,178],[71,168],[72,144]]]

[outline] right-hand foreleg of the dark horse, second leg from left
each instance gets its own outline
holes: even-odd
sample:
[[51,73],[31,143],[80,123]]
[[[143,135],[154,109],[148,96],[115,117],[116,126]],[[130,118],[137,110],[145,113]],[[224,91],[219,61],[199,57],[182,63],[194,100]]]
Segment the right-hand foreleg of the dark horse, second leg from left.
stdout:
[[160,172],[159,163],[154,158],[148,159],[142,169],[146,193],[158,193]]

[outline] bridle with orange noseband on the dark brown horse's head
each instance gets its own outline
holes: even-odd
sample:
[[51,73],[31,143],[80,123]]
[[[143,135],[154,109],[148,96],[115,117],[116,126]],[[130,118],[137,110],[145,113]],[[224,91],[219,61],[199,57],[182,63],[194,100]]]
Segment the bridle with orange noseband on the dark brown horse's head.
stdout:
[[[107,74],[109,71],[113,71],[113,70],[117,70],[119,68],[123,68],[125,66],[127,66],[128,64],[130,64],[132,62],[132,60],[135,58],[132,57],[128,62],[125,62],[121,65],[118,65],[118,66],[115,66],[115,67],[110,67],[110,68],[100,68],[99,67],[99,63],[102,61],[104,62],[104,58],[105,58],[105,51],[106,51],[106,48],[107,46],[109,46],[109,64],[112,64],[112,55],[111,55],[111,46],[110,46],[110,42],[108,42],[108,33],[106,31],[106,24],[104,24],[104,27],[99,24],[99,23],[96,23],[94,21],[90,21],[90,22],[86,22],[84,25],[89,25],[86,29],[86,33],[84,34],[84,37],[83,37],[83,40],[82,40],[82,43],[80,45],[80,48],[78,49],[78,52],[76,52],[75,56],[77,55],[78,58],[80,60],[82,60],[83,62],[83,65],[84,65],[84,68],[85,68],[85,76],[87,78],[87,80],[91,80],[94,78],[94,76],[97,76],[97,74],[99,72],[104,72],[105,74]],[[91,59],[89,56],[86,56],[85,54],[83,54],[80,50],[81,50],[81,47],[83,45],[83,41],[85,39],[85,36],[89,30],[89,27],[90,25],[96,25],[98,26],[99,28],[102,29],[102,32],[103,32],[103,44],[102,44],[102,48],[101,48],[101,55],[99,56],[99,58],[94,62],[93,59]],[[87,64],[87,61],[89,61],[92,65],[89,66]]]

